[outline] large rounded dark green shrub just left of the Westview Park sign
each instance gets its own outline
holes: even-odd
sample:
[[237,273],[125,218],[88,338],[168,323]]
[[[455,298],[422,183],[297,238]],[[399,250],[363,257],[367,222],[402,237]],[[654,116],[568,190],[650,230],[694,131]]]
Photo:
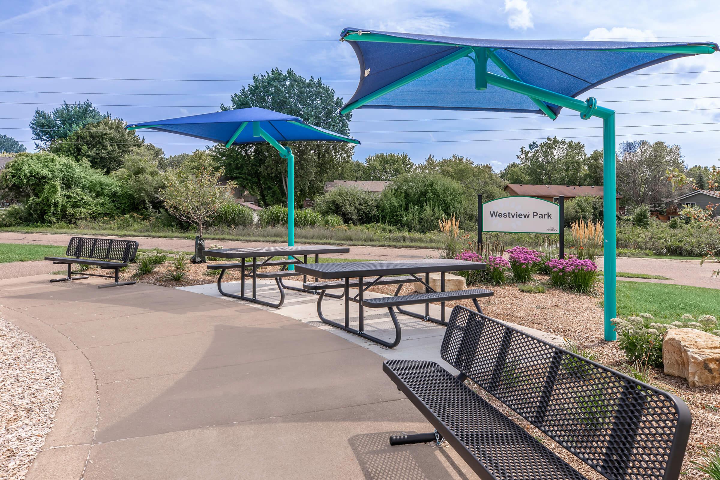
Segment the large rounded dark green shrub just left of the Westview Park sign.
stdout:
[[410,232],[431,232],[443,218],[462,218],[465,196],[462,186],[449,178],[409,173],[380,195],[380,219]]

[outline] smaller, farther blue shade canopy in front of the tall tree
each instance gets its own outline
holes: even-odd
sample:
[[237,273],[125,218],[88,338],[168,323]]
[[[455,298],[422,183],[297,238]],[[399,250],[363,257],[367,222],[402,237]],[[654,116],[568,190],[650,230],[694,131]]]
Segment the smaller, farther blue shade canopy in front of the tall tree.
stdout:
[[[158,132],[171,132],[187,137],[202,138],[209,142],[228,145],[243,143],[264,143],[262,137],[253,135],[253,122],[278,142],[350,142],[359,144],[358,140],[339,133],[330,132],[311,125],[300,117],[293,117],[259,107],[226,110],[189,117],[178,117],[155,122],[129,124],[127,128],[136,130],[148,128]],[[242,127],[242,128],[241,128]],[[240,132],[238,133],[238,130]],[[237,133],[237,135],[235,135]],[[233,139],[234,137],[234,139]]]

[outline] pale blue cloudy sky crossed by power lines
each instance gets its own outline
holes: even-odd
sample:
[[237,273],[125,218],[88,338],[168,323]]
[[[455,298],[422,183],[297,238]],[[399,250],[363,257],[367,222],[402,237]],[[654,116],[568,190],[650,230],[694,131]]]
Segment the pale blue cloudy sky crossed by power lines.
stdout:
[[[328,81],[349,99],[359,77],[349,45],[338,42],[343,27],[420,32],[485,38],[611,39],[720,42],[720,4],[685,1],[581,0],[398,0],[398,1],[11,1],[0,0],[0,32],[72,35],[10,35],[0,33],[0,75],[102,78],[205,78],[243,80],[271,68],[292,68],[303,76]],[[135,37],[135,38],[128,38]],[[138,37],[212,37],[182,40]],[[670,38],[672,37],[672,38]],[[714,73],[672,74],[683,71]],[[626,76],[585,96],[603,101],[675,99],[719,96],[720,53],[683,58]],[[332,80],[332,82],[330,82]],[[693,85],[692,83],[706,83]],[[670,86],[654,86],[667,85]],[[35,108],[90,99],[94,104],[168,105],[171,107],[98,107],[130,122],[216,111],[243,82],[71,80],[0,76],[0,133],[30,140],[28,120]],[[90,93],[18,93],[90,92]],[[123,93],[120,95],[120,93]],[[133,94],[133,95],[127,95]],[[153,94],[153,95],[134,95]],[[203,94],[168,96],[155,94]],[[215,95],[215,96],[210,96]],[[188,107],[199,105],[204,107]],[[683,149],[688,164],[718,164],[720,158],[720,98],[670,101],[624,101],[606,104],[618,112],[618,142],[664,140]],[[213,107],[218,106],[218,107]],[[685,110],[638,114],[657,110]],[[567,109],[562,114],[570,114]],[[506,118],[523,117],[523,118]],[[426,119],[443,119],[429,121]],[[455,120],[447,120],[455,119]],[[382,121],[377,121],[382,120]],[[392,120],[392,121],[388,121]],[[667,125],[669,126],[656,126]],[[360,109],[351,130],[363,142],[356,158],[379,151],[406,152],[416,163],[427,155],[454,153],[477,163],[503,168],[516,159],[521,145],[546,135],[602,135],[597,119],[577,115],[552,122],[545,117],[494,112],[451,112]],[[567,129],[580,130],[532,130]],[[505,130],[443,132],[441,130]],[[418,132],[429,130],[429,132]],[[704,130],[704,133],[670,133]],[[716,131],[712,131],[716,130]],[[624,136],[630,134],[629,136]],[[167,154],[192,151],[203,145],[186,137],[145,132],[145,138]],[[523,139],[441,142],[440,140]],[[434,140],[428,143],[389,143]],[[577,138],[588,153],[600,148],[600,137]],[[175,145],[172,145],[175,144]],[[32,142],[26,142],[32,148]]]

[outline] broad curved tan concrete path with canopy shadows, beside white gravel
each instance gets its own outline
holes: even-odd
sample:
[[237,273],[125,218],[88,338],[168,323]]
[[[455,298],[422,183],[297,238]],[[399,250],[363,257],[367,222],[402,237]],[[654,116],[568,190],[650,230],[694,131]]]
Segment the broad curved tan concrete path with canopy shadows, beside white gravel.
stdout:
[[[469,479],[356,343],[189,291],[0,281],[0,314],[46,343],[65,386],[27,479]],[[312,298],[312,297],[311,297]]]

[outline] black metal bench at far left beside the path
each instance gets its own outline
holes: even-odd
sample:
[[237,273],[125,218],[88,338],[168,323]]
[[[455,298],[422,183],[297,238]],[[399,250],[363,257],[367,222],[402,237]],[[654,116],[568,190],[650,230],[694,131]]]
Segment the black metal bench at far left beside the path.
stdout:
[[[51,282],[81,280],[91,276],[114,279],[112,284],[97,286],[99,289],[104,289],[109,286],[135,284],[135,281],[120,281],[120,268],[126,267],[127,263],[135,260],[137,253],[138,242],[135,240],[72,237],[70,243],[68,243],[66,257],[45,257],[45,260],[53,261],[55,264],[67,264],[68,266],[68,275],[64,279],[52,279]],[[114,270],[115,274],[113,276],[100,275],[99,273],[73,272],[73,263],[98,266],[104,270]],[[76,276],[73,277],[73,273]]]

